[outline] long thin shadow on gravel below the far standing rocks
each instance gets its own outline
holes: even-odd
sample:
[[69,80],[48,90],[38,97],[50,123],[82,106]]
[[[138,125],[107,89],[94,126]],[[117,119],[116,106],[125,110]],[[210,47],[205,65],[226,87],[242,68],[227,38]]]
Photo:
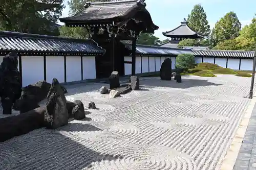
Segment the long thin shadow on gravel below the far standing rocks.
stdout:
[[177,83],[176,80],[160,80],[160,79],[144,79],[140,81],[142,88],[151,87],[169,87],[169,88],[190,88],[190,87],[203,87],[203,86],[221,86],[222,84],[216,84],[208,82],[207,80],[198,79],[182,79],[182,83]]

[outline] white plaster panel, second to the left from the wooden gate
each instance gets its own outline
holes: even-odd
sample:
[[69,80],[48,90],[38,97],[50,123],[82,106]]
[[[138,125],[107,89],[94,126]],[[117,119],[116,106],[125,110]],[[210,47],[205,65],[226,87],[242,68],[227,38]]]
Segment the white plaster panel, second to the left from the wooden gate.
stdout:
[[66,57],[67,82],[81,81],[81,57]]

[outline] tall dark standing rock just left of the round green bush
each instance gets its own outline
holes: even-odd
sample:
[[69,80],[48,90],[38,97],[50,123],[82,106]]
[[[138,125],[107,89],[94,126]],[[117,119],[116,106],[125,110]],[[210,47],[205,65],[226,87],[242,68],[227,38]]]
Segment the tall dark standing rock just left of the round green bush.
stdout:
[[160,68],[161,80],[172,80],[172,60],[166,58]]

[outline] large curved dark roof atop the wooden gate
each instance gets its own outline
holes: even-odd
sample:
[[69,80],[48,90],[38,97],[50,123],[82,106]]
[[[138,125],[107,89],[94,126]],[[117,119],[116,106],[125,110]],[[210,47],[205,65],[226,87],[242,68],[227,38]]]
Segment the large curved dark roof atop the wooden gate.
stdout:
[[123,26],[129,20],[135,19],[136,23],[145,25],[144,32],[154,33],[159,27],[156,26],[150,13],[146,10],[144,0],[122,0],[111,2],[87,2],[84,11],[74,16],[60,18],[69,27],[84,27],[86,25]]

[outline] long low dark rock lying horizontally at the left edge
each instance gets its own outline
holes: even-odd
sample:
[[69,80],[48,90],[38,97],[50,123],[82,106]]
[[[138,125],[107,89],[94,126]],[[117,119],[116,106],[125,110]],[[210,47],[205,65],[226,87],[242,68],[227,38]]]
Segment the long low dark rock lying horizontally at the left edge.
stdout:
[[0,118],[0,142],[44,127],[45,112],[46,107],[39,107],[24,114]]

